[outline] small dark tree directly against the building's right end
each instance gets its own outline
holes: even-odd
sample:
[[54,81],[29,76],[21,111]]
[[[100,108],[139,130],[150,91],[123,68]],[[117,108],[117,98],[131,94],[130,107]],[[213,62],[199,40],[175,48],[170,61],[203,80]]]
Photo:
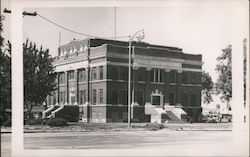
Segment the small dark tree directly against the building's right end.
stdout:
[[214,88],[214,83],[212,81],[211,76],[209,75],[208,72],[203,71],[202,72],[202,100],[203,103],[209,104],[213,102],[213,88]]

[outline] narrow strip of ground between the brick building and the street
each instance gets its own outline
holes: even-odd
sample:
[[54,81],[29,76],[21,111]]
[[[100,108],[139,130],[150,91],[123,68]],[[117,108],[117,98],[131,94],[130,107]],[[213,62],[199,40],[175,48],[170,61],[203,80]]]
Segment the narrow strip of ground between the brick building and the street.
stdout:
[[[149,123],[69,123],[68,126],[50,127],[46,125],[25,125],[24,133],[45,132],[93,132],[93,131],[145,131]],[[164,124],[166,131],[232,131],[232,123],[184,123]],[[1,127],[1,133],[11,133],[10,127]]]

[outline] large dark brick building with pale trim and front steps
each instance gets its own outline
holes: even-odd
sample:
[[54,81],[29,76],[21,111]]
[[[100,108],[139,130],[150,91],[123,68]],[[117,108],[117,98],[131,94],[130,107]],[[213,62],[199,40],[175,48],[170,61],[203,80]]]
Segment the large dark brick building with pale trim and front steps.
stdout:
[[[134,121],[197,120],[201,113],[202,56],[176,47],[133,42]],[[53,62],[57,90],[47,97],[43,117],[71,121],[126,122],[128,42],[72,41],[59,47]]]

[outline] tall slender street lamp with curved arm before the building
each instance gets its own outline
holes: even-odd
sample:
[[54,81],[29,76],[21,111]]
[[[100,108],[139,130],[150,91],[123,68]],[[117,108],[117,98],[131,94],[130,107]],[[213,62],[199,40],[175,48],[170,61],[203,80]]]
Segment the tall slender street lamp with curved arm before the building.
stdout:
[[139,31],[137,31],[133,36],[129,36],[129,54],[128,54],[128,127],[130,127],[130,120],[131,120],[131,115],[130,115],[130,105],[131,105],[131,45],[132,45],[132,41],[134,38],[137,38],[138,41],[142,41],[145,37],[144,35],[144,30],[141,29]]

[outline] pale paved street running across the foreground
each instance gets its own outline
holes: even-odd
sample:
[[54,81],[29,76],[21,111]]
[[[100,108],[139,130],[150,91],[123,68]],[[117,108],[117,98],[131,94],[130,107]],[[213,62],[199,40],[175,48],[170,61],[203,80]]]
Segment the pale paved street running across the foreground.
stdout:
[[[2,136],[2,156],[10,156],[10,134]],[[92,131],[25,133],[25,149],[164,149],[230,155],[232,131]],[[165,152],[165,153],[166,153]],[[164,152],[163,152],[164,153]],[[197,152],[198,153],[198,152]],[[143,152],[142,152],[143,154]],[[197,154],[199,155],[199,154]],[[204,154],[203,154],[204,155]]]

